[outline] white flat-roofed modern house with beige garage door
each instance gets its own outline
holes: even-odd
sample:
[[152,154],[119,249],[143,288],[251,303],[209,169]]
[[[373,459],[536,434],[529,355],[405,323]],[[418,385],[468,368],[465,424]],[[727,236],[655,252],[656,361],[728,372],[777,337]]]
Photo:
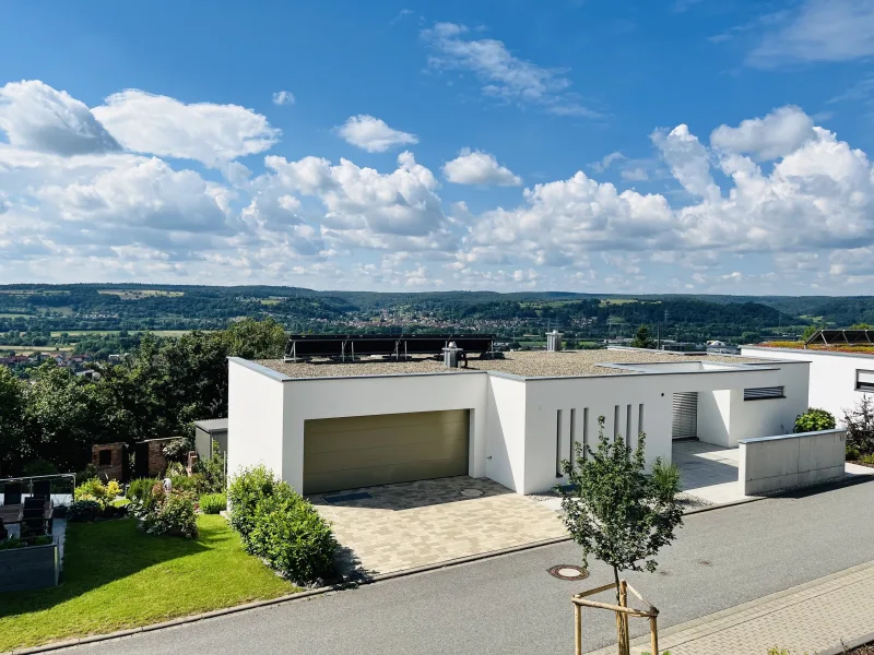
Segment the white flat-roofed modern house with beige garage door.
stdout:
[[[634,348],[436,359],[229,359],[228,469],[264,464],[312,493],[429,477],[488,477],[519,493],[562,484],[575,442],[647,433],[724,446],[792,430],[807,408],[794,359]],[[782,354],[780,354],[782,355]]]

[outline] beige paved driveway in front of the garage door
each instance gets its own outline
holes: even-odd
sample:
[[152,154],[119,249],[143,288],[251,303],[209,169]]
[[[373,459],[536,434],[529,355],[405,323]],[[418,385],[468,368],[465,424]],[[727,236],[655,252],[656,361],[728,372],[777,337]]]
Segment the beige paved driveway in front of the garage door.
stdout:
[[[326,500],[367,493],[368,498]],[[333,524],[346,568],[390,573],[567,536],[558,515],[468,476],[310,496]]]

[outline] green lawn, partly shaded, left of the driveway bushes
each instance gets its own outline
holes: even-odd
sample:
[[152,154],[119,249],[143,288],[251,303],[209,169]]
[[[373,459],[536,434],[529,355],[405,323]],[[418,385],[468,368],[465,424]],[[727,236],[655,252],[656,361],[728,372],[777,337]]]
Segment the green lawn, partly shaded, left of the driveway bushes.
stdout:
[[130,519],[70,524],[61,585],[0,594],[0,652],[299,591],[246,555],[223,517],[198,526],[190,541],[149,536]]

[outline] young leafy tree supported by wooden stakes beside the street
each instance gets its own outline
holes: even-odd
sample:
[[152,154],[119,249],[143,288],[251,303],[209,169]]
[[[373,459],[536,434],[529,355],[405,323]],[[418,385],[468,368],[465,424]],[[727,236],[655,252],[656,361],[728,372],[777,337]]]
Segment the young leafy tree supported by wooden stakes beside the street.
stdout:
[[[574,540],[582,546],[582,563],[594,556],[613,569],[616,603],[621,571],[656,571],[654,556],[674,539],[683,524],[683,507],[676,499],[676,467],[657,460],[646,473],[646,434],[637,448],[624,437],[604,434],[604,417],[598,419],[598,450],[576,444],[576,462],[563,462],[570,485],[563,492],[562,513]],[[619,653],[628,652],[626,623],[617,617]]]

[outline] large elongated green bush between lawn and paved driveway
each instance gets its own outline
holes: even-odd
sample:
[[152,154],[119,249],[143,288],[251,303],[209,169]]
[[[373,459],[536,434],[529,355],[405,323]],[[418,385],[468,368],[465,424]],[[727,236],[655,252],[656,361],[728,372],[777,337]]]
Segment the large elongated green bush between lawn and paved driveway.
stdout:
[[227,493],[231,526],[248,552],[303,584],[333,572],[336,540],[314,507],[263,466],[244,471]]

